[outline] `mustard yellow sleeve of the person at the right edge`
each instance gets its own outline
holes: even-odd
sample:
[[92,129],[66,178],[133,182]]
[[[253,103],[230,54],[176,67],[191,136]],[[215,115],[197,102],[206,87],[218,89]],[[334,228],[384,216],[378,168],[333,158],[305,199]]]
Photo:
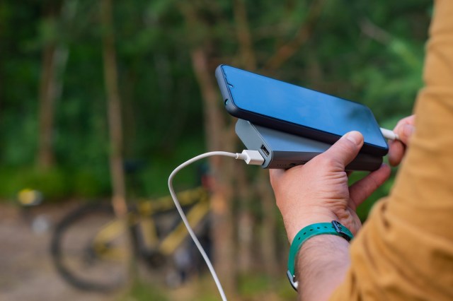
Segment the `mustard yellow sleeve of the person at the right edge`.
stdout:
[[435,1],[415,134],[331,300],[453,300],[453,1]]

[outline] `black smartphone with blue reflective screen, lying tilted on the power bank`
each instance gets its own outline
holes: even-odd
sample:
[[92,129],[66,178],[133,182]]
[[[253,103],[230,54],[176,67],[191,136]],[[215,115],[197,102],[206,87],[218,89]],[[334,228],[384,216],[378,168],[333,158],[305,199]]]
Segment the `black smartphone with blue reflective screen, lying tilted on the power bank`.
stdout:
[[218,66],[215,75],[226,110],[234,117],[331,144],[348,131],[360,131],[362,153],[383,156],[389,151],[365,105],[232,66]]

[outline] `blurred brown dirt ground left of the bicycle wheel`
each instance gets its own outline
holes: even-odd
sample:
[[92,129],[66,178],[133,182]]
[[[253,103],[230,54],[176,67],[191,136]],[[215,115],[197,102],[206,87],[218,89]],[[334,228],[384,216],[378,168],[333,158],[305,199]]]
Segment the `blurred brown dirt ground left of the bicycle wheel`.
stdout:
[[72,208],[39,206],[24,211],[0,205],[0,300],[110,301],[115,295],[86,293],[72,288],[55,271],[50,257],[53,226]]

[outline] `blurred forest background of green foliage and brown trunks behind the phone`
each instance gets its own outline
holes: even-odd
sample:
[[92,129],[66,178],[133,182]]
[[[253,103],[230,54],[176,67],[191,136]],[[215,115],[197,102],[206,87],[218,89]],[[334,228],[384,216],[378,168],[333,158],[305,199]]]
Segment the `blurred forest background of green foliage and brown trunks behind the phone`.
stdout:
[[[423,83],[431,13],[427,0],[0,1],[0,198],[162,196],[184,160],[240,151],[219,64],[361,102],[393,128]],[[247,294],[246,276],[260,275],[275,293],[287,240],[268,173],[218,158],[210,170],[224,287]],[[176,188],[199,182],[189,167]]]

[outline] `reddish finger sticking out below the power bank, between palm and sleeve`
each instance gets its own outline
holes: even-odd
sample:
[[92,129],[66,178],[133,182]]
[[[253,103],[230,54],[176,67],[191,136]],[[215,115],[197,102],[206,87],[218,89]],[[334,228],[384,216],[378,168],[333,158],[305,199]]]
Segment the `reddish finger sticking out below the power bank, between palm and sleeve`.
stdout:
[[356,208],[389,179],[390,172],[388,165],[382,165],[379,170],[374,170],[367,177],[360,179],[360,181],[349,187],[350,199],[355,203]]

